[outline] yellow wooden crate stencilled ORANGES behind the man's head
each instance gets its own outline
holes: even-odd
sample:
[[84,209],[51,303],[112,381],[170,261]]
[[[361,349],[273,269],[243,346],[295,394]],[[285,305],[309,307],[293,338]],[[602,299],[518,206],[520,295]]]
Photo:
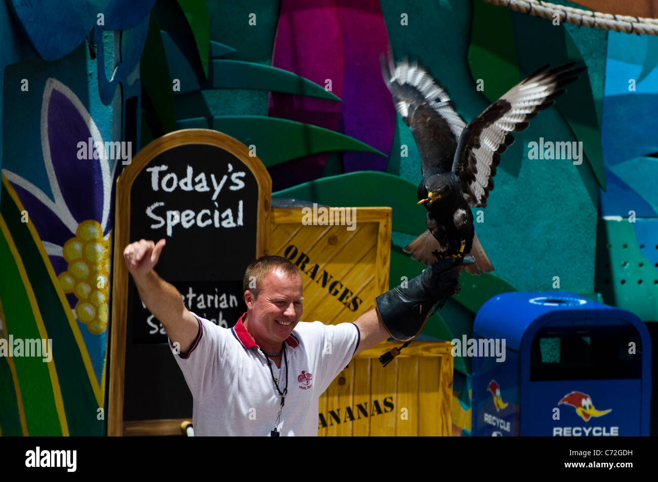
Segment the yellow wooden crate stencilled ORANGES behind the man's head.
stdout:
[[356,212],[352,230],[305,225],[303,208],[272,208],[268,254],[290,259],[301,271],[305,322],[353,322],[388,291],[392,209],[347,209]]

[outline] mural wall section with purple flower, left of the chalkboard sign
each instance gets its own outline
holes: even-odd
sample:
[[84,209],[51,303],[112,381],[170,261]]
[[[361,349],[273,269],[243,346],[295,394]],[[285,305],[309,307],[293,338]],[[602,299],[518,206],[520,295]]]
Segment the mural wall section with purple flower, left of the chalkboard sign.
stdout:
[[113,186],[153,2],[65,3],[0,3],[3,435],[105,432]]

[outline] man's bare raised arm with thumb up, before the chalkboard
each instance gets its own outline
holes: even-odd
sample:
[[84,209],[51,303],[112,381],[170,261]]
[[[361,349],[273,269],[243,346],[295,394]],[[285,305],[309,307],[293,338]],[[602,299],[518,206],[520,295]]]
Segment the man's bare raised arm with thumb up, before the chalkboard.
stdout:
[[180,343],[180,352],[190,349],[197,337],[199,322],[188,311],[178,290],[157,275],[153,268],[157,264],[165,241],[157,245],[141,239],[124,249],[124,261],[139,291],[146,308],[164,326],[172,343]]

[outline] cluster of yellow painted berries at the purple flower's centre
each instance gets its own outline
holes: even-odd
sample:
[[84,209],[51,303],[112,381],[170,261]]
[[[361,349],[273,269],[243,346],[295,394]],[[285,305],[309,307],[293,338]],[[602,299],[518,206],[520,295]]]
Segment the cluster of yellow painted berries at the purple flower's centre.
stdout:
[[78,299],[76,317],[95,335],[103,333],[109,321],[110,249],[111,237],[103,239],[98,222],[81,222],[76,236],[64,243],[68,268],[57,277],[64,293]]

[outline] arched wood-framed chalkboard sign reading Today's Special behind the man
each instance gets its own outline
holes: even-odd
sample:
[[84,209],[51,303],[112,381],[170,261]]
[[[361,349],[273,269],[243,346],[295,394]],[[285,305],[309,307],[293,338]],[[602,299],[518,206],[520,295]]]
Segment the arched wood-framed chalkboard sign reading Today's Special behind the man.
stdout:
[[192,397],[162,325],[143,305],[123,250],[166,239],[155,271],[191,312],[224,327],[246,306],[242,277],[265,254],[272,182],[228,135],[172,132],[142,149],[117,181],[109,435],[176,433]]

